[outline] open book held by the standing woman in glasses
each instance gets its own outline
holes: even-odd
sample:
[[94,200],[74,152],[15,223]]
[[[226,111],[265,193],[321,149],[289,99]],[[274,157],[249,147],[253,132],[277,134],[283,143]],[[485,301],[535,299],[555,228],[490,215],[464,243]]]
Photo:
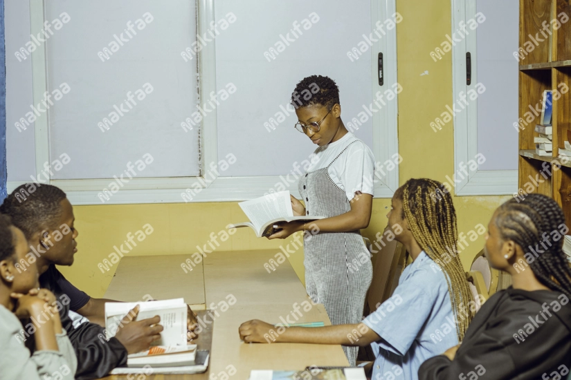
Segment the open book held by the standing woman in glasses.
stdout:
[[230,227],[251,227],[258,238],[270,236],[278,229],[274,227],[277,222],[292,222],[293,220],[318,220],[324,216],[293,216],[289,191],[280,191],[260,198],[246,200],[239,203],[242,211],[248,216],[250,222],[237,223]]

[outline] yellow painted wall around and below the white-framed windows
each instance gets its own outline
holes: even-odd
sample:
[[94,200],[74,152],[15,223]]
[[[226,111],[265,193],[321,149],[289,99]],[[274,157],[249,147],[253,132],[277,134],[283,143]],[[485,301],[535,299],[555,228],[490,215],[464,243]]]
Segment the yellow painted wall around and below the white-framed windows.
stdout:
[[[453,103],[451,53],[434,62],[429,53],[444,41],[451,30],[449,0],[397,0],[397,11],[403,21],[397,27],[399,83],[404,90],[399,95],[399,151],[404,161],[400,167],[400,182],[408,178],[433,178],[444,182],[454,173],[453,129],[447,124],[442,131],[430,129],[430,121]],[[420,76],[428,70],[428,75]],[[509,196],[455,197],[459,231],[467,234],[475,225],[487,222],[493,210]],[[386,212],[390,200],[376,199],[372,220],[364,236],[374,240],[386,227]],[[230,222],[246,220],[235,202],[170,204],[170,205],[97,205],[75,207],[78,254],[73,267],[62,272],[80,289],[93,297],[105,294],[116,265],[103,274],[98,263],[120,245],[129,231],[135,233],[145,223],[154,232],[129,255],[192,254],[196,245],[208,243],[211,232],[217,234]],[[256,239],[248,229],[238,230],[217,250],[275,249],[286,241]],[[467,268],[471,259],[482,249],[483,236],[461,252]],[[290,258],[298,276],[303,278],[302,250]]]

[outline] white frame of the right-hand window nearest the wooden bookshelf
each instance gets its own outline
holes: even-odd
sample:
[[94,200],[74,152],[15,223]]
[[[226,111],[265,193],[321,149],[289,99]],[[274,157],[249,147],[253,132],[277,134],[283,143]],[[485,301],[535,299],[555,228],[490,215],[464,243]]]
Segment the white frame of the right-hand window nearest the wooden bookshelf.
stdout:
[[[475,0],[452,0],[452,30],[460,21],[466,22],[466,13],[476,13]],[[466,53],[472,56],[472,82],[466,86]],[[470,33],[457,46],[452,47],[452,93],[453,102],[460,102],[460,91],[468,92],[478,83],[478,59],[476,59],[476,33]],[[454,168],[467,164],[478,154],[478,105],[469,104],[466,112],[453,115],[454,124]],[[517,152],[514,152],[517,154]],[[455,186],[457,196],[503,196],[518,190],[518,171],[478,170],[469,171]]]

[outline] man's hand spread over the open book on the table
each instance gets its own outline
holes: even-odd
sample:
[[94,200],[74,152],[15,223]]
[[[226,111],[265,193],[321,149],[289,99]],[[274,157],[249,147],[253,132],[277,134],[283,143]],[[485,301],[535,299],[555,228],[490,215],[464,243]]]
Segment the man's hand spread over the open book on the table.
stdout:
[[161,339],[163,326],[159,316],[135,321],[139,312],[139,305],[136,305],[123,319],[117,329],[115,337],[127,348],[127,353],[134,354],[147,350],[151,343]]

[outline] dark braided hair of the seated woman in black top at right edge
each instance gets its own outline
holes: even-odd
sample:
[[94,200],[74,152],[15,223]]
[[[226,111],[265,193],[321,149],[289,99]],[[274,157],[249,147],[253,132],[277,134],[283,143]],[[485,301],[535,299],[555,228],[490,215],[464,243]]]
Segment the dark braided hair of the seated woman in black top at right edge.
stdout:
[[[571,265],[563,252],[563,235],[569,229],[557,202],[536,193],[524,200],[511,199],[498,208],[495,222],[502,240],[513,240],[526,252],[538,281],[571,298]],[[543,253],[534,256],[529,252],[537,252],[534,247],[540,252],[543,247]]]

